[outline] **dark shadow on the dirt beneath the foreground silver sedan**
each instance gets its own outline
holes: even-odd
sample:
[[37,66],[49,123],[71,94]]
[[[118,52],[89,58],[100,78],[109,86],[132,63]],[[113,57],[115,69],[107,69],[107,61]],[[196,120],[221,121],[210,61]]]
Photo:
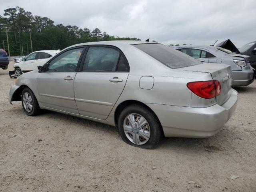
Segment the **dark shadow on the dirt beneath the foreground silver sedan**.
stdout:
[[[42,116],[45,116],[45,118],[55,118],[60,121],[68,121],[74,124],[78,123],[84,126],[83,129],[86,129],[89,126],[90,128],[94,129],[95,132],[102,132],[102,134],[104,134],[104,132],[109,132],[111,133],[109,136],[113,136],[114,138],[117,138],[118,140],[120,140],[120,142],[122,142],[122,138],[119,135],[117,128],[114,126],[70,115],[63,115],[58,112],[52,112],[47,110],[42,113]],[[223,150],[222,146],[225,146],[224,137],[225,135],[227,135],[227,131],[229,130],[223,128],[216,135],[204,139],[164,137],[160,141],[156,150],[174,150],[184,153],[191,150],[194,151],[194,153],[201,153],[202,151],[209,153],[221,151]]]

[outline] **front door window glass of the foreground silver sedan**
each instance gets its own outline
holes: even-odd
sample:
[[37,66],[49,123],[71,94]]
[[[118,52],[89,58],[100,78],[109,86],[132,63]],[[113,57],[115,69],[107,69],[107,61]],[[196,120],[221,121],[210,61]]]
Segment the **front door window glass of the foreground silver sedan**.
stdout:
[[48,72],[75,72],[84,48],[68,50],[48,64]]

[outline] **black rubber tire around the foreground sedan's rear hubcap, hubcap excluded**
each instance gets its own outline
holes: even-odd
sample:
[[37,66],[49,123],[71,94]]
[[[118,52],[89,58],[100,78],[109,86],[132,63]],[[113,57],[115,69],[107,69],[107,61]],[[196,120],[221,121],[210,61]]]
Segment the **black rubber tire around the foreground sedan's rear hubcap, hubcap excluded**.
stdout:
[[[126,118],[126,116],[128,114],[131,114],[131,113],[136,113],[136,114],[143,116],[147,120],[147,122],[150,126],[150,138],[149,138],[148,142],[146,142],[143,145],[136,145],[136,144],[132,143],[127,138],[126,134],[124,133],[124,128],[123,128],[124,119]],[[130,144],[132,146],[145,148],[145,149],[155,148],[158,145],[158,143],[160,142],[160,139],[162,137],[162,128],[161,128],[160,122],[159,122],[158,118],[156,117],[156,115],[152,111],[150,111],[148,108],[146,108],[145,106],[138,105],[138,104],[132,104],[130,106],[127,106],[120,113],[120,116],[118,118],[118,130],[119,130],[120,136],[122,137],[124,142],[126,142],[127,144]]]

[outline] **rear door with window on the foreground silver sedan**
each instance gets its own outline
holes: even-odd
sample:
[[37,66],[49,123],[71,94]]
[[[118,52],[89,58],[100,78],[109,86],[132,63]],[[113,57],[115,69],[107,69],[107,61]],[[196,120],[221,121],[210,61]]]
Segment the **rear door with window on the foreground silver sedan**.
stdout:
[[74,81],[79,114],[106,119],[124,90],[128,74],[128,62],[118,48],[89,46]]

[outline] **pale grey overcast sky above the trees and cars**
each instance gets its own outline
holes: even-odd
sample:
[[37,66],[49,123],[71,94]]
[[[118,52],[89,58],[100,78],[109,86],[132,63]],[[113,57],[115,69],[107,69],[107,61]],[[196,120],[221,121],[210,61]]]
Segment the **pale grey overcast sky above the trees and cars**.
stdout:
[[[256,40],[255,0],[8,0],[54,24],[99,28],[163,44],[210,45],[230,38],[239,48]],[[217,43],[218,43],[217,42]]]

